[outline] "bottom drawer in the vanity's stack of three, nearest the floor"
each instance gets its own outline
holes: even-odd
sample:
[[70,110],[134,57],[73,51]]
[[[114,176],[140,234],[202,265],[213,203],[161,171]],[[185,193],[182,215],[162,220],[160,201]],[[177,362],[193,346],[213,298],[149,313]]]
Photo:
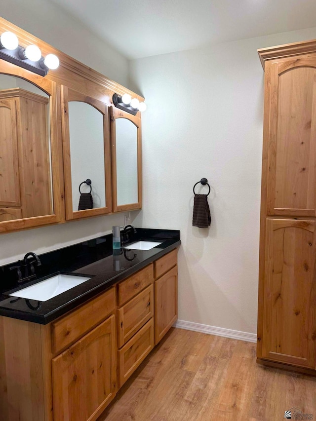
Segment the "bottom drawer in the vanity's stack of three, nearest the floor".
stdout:
[[119,387],[134,373],[154,347],[154,320],[151,318],[118,351]]

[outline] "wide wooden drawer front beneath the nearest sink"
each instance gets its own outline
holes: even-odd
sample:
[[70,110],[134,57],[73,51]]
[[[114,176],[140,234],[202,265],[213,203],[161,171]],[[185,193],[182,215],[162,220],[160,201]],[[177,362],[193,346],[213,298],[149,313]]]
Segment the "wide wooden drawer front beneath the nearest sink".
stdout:
[[51,324],[52,352],[65,348],[94,326],[101,323],[115,308],[115,287],[88,301],[77,310]]

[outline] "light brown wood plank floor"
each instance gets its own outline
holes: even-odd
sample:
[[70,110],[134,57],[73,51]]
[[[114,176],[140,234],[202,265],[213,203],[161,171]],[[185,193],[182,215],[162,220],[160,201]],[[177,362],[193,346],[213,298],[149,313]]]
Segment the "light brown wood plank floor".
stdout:
[[315,420],[316,378],[261,366],[255,349],[172,328],[98,421],[275,421],[293,407]]

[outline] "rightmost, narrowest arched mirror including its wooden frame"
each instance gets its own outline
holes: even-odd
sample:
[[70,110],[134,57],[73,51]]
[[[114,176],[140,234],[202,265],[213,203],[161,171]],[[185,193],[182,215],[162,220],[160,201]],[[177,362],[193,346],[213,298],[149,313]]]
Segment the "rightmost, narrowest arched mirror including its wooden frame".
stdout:
[[113,210],[141,209],[141,122],[111,109]]

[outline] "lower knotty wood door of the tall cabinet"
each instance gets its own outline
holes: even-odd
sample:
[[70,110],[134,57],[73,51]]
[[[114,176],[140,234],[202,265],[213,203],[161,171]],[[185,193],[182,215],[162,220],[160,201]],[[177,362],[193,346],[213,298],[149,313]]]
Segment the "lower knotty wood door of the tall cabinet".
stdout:
[[263,358],[315,368],[316,221],[267,220]]

